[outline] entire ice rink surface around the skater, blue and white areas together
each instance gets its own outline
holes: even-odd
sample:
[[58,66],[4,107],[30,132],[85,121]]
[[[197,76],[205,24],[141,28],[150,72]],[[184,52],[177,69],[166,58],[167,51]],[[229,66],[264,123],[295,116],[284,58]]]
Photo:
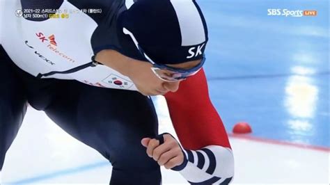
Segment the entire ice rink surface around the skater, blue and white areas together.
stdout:
[[[198,1],[210,42],[210,97],[230,134],[234,184],[329,184],[329,1]],[[317,16],[268,15],[269,9]],[[162,97],[160,132],[174,134]],[[239,121],[252,134],[231,134]],[[2,184],[109,184],[111,164],[29,108]],[[164,184],[184,184],[162,171]]]

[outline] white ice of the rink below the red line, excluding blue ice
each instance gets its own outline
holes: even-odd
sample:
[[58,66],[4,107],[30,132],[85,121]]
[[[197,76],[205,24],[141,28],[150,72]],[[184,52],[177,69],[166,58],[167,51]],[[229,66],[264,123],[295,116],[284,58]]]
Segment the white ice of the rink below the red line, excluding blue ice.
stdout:
[[[157,104],[165,104],[157,97]],[[159,106],[160,131],[175,134]],[[329,151],[230,137],[235,184],[327,184]],[[3,184],[109,184],[111,164],[60,129],[45,113],[29,108],[8,151]],[[325,163],[327,161],[327,163]],[[187,184],[178,172],[162,168],[164,184]],[[139,184],[139,183],[137,183]]]

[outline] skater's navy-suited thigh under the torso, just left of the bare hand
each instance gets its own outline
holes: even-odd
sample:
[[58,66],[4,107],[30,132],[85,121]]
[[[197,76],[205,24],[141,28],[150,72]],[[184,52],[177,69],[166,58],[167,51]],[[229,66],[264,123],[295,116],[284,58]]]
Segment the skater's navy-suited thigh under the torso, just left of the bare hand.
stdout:
[[61,88],[45,112],[69,134],[106,157],[120,155],[118,152],[127,146],[132,151],[144,150],[141,138],[155,137],[158,131],[155,108],[148,97],[76,81]]

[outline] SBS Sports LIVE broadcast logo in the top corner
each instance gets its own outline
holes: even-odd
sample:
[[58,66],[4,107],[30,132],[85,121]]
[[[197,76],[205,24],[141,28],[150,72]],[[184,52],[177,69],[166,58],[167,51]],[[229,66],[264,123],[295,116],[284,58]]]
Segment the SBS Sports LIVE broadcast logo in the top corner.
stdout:
[[303,17],[317,16],[317,10],[288,10],[288,9],[267,9],[268,16],[284,16],[284,17]]

